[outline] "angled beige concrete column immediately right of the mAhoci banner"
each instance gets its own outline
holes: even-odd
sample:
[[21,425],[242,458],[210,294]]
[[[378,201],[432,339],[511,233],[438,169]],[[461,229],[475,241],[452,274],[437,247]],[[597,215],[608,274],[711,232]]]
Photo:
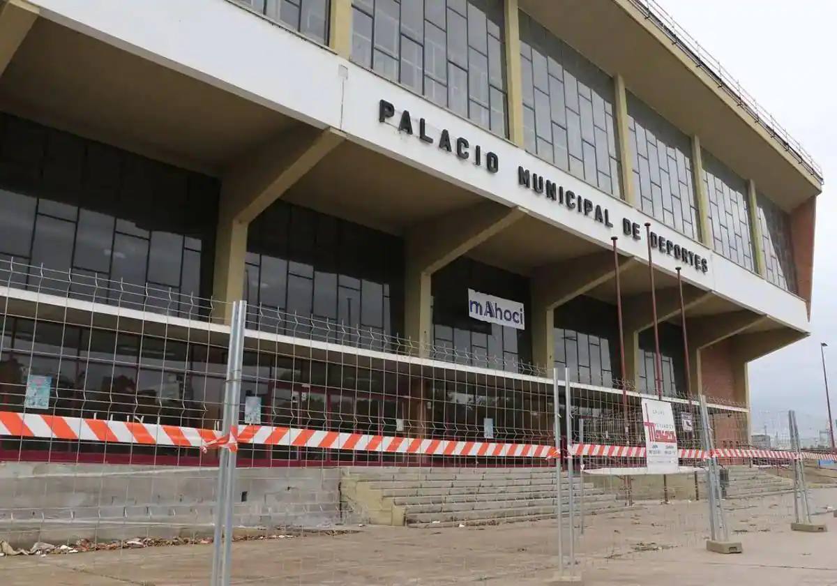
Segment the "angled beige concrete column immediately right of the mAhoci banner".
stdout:
[[[619,272],[636,264],[619,257]],[[532,361],[542,368],[554,362],[553,311],[574,297],[583,295],[614,278],[613,252],[597,252],[554,265],[538,267],[531,277]]]

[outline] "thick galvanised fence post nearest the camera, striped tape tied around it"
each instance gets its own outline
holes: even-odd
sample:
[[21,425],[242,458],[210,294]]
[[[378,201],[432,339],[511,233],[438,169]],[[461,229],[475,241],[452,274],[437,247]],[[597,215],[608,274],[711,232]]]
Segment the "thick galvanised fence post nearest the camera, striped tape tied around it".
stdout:
[[[239,423],[239,404],[241,400],[241,373],[244,366],[244,318],[247,304],[236,301],[233,304],[229,330],[229,352],[227,356],[227,379],[223,393],[223,425],[221,434],[228,435],[235,441],[236,427]],[[215,527],[213,531],[213,567],[212,586],[229,586],[232,572],[233,555],[233,510],[235,487],[235,450],[236,445],[222,447],[218,457],[218,485],[215,507]],[[223,544],[222,544],[223,538]]]

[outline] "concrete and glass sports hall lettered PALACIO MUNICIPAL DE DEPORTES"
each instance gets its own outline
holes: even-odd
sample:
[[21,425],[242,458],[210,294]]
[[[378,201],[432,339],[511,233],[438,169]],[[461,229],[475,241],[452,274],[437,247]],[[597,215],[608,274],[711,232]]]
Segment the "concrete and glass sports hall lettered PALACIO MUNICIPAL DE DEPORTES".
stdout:
[[644,0],[6,0],[2,403],[211,429],[245,300],[262,424],[536,440],[553,367],[748,420],[822,181]]

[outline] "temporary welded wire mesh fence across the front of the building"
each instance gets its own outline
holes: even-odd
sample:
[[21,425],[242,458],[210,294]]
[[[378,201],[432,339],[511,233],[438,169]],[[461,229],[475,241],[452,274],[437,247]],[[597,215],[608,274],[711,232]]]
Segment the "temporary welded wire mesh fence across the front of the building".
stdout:
[[[671,396],[664,424],[628,383],[567,393],[562,369],[259,307],[239,360],[228,304],[95,279],[72,296],[75,275],[8,268],[0,564],[20,583],[67,568],[311,584],[617,571],[703,547],[712,486],[732,540],[788,526],[804,491],[814,522],[834,503],[816,473],[833,459],[821,417],[796,414],[794,448],[786,411],[702,389],[706,419],[696,397]],[[676,470],[660,474],[650,439],[669,432]],[[225,534],[229,553],[213,548]]]

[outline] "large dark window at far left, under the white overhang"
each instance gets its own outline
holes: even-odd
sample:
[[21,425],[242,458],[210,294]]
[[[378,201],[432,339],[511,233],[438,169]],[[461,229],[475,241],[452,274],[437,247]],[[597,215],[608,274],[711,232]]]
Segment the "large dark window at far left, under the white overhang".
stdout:
[[[49,145],[39,150],[49,158],[39,163],[48,176],[23,181],[31,162],[18,162],[19,149],[0,153],[0,168],[18,177],[13,189],[0,177],[0,255],[72,271],[73,294],[88,300],[94,293],[100,302],[121,299],[109,301],[93,277],[122,280],[110,288],[131,290],[136,302],[145,302],[146,280],[175,292],[187,280],[190,294],[211,296],[214,259],[201,250],[213,249],[218,182],[13,116],[0,114],[0,122],[0,144],[14,132],[18,142],[30,136]],[[50,276],[59,289],[69,284],[69,275]],[[36,287],[36,277],[20,284]]]

